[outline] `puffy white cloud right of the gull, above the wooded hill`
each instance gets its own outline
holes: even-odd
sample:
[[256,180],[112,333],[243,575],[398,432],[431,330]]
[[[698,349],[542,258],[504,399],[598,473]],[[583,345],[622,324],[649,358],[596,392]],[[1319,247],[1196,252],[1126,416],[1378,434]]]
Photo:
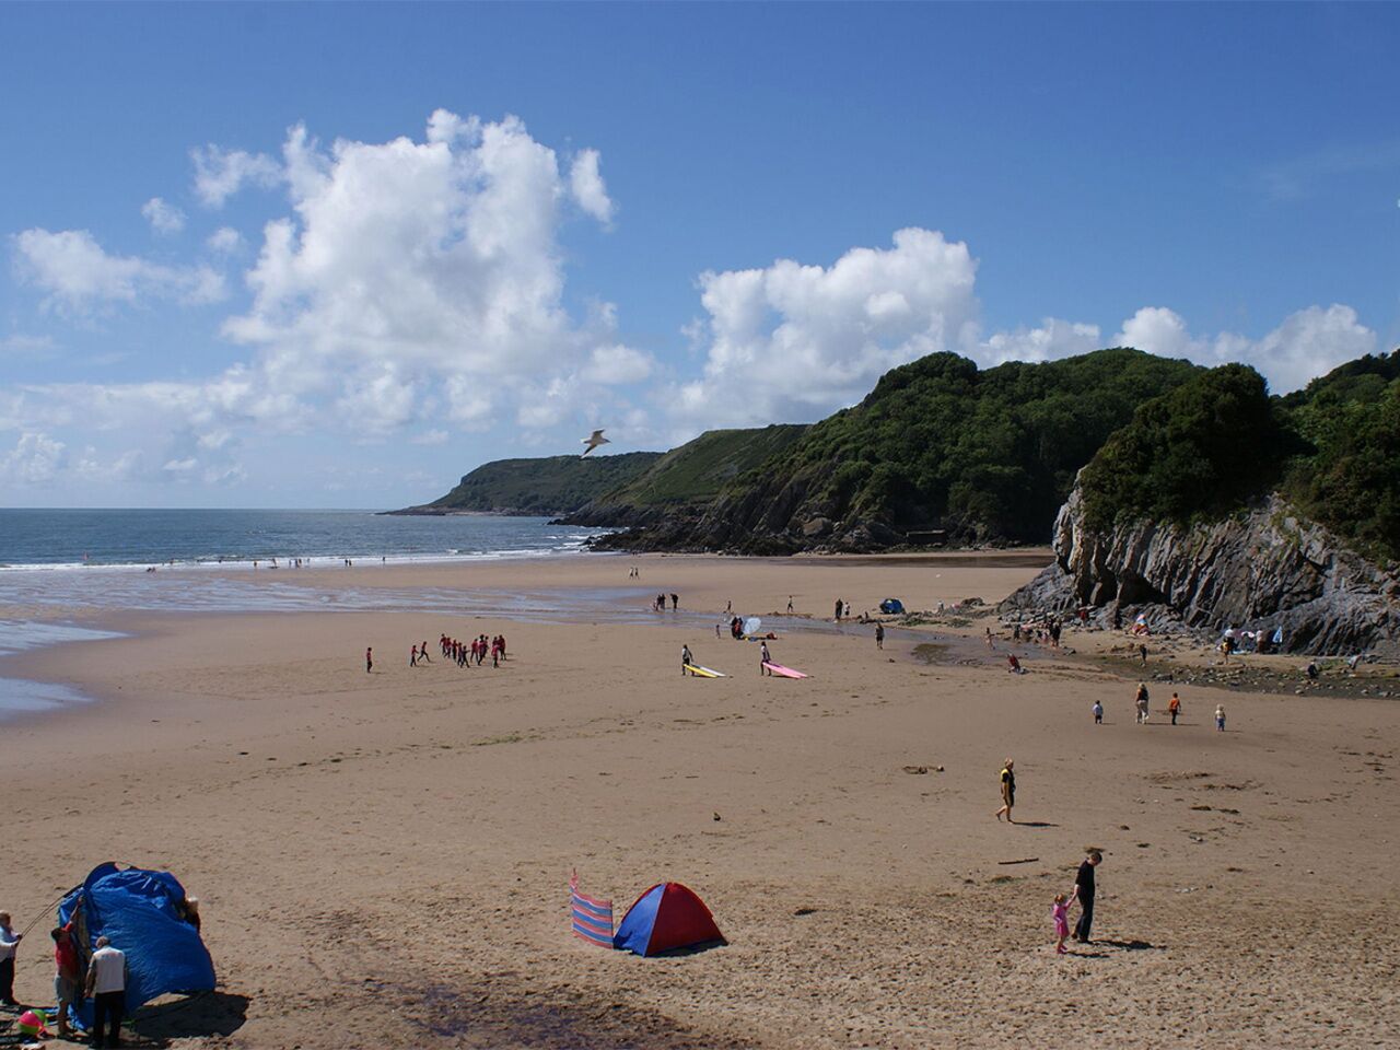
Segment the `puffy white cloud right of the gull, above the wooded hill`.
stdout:
[[976,272],[967,245],[909,228],[892,248],[853,248],[829,267],[780,259],[704,273],[704,377],[668,399],[706,428],[850,405],[895,365],[974,343]]

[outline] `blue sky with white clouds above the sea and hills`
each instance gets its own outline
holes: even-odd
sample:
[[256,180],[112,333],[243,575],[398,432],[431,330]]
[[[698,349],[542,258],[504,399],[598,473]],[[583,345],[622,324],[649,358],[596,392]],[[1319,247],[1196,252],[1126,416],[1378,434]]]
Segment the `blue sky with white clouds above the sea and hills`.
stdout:
[[1390,4],[0,4],[0,505],[364,507],[951,350],[1400,346]]

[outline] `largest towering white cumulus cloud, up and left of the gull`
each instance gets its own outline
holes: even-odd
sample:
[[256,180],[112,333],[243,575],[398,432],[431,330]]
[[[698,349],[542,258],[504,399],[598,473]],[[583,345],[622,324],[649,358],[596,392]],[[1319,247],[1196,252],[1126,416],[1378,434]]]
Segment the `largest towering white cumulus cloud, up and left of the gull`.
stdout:
[[224,325],[258,347],[277,389],[328,395],[358,433],[384,435],[430,406],[483,426],[556,377],[650,372],[650,357],[617,344],[610,304],[584,326],[564,309],[566,181],[518,119],[437,111],[424,141],[329,148],[297,126],[281,167],[293,214],[265,227],[252,305]]

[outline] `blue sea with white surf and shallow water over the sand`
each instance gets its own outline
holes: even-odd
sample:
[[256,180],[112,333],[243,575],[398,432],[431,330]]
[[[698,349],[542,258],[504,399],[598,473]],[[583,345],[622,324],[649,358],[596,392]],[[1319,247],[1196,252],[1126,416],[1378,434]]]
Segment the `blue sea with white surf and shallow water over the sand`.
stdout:
[[[325,573],[347,563],[402,566],[582,554],[589,538],[603,532],[554,525],[549,518],[475,514],[0,508],[0,665],[6,655],[41,645],[119,637],[74,622],[74,613],[94,609],[438,608],[538,619],[577,616],[626,599],[630,592],[620,588],[559,595],[322,584],[330,582]],[[0,672],[0,720],[76,703],[85,703],[85,697],[66,686],[4,678]]]

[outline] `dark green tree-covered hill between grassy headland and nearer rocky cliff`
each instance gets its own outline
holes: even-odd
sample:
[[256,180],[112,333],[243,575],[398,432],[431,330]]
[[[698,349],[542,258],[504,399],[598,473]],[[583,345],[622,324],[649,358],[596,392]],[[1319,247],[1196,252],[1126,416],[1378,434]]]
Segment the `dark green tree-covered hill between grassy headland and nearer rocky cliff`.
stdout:
[[987,371],[930,354],[728,486],[706,525],[734,519],[734,543],[743,531],[792,535],[812,517],[1043,540],[1109,434],[1197,371],[1130,349]]

